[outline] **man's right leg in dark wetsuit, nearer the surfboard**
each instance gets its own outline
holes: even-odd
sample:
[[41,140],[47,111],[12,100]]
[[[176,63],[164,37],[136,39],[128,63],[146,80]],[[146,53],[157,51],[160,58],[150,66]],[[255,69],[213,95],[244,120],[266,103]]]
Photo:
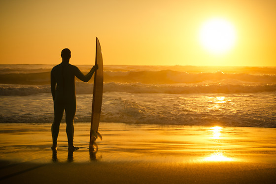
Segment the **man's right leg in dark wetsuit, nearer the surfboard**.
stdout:
[[76,103],[68,103],[65,108],[66,113],[66,133],[68,138],[68,148],[71,150],[76,150],[78,147],[74,147],[73,138],[74,138],[74,118],[76,113]]

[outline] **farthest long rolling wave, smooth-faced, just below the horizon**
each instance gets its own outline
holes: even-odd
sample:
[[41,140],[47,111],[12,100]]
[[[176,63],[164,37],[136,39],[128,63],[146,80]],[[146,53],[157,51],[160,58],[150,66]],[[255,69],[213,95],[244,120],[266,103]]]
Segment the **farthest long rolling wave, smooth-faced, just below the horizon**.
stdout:
[[[79,81],[78,79],[76,79]],[[128,72],[104,72],[104,82],[116,83],[143,83],[143,84],[176,84],[176,83],[207,83],[208,81],[219,82],[222,80],[239,80],[244,82],[275,83],[276,75],[269,74],[224,74],[198,73],[190,74],[178,71],[128,71]],[[93,78],[90,80],[93,82]],[[50,84],[50,72],[34,74],[0,74],[2,84]]]

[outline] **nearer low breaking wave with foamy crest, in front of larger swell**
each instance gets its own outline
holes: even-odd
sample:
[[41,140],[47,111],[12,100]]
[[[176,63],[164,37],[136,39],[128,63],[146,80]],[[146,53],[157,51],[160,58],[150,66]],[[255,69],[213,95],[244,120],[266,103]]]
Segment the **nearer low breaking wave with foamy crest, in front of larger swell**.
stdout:
[[[115,83],[104,84],[104,92],[127,93],[257,93],[276,91],[276,84],[142,84]],[[77,94],[92,94],[93,84],[76,82]],[[0,95],[28,96],[38,93],[51,93],[50,85],[0,85]]]

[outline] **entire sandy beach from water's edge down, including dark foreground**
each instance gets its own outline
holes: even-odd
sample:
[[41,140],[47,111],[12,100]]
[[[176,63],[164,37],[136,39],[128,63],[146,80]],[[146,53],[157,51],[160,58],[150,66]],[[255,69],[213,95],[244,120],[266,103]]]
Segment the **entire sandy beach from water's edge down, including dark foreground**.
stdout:
[[101,123],[89,157],[89,123],[75,123],[68,153],[65,124],[57,154],[51,124],[0,124],[1,183],[273,184],[276,129]]

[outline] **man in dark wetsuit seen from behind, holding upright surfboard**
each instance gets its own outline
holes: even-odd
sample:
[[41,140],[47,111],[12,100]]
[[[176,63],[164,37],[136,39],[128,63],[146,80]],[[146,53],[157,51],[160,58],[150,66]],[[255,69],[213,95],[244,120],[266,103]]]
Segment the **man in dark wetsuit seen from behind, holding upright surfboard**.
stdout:
[[88,82],[98,65],[93,66],[86,75],[80,70],[69,64],[71,51],[65,48],[61,52],[62,63],[55,66],[51,71],[51,92],[54,100],[54,121],[52,124],[52,149],[57,149],[57,139],[60,130],[60,123],[65,110],[66,133],[68,138],[68,149],[77,150],[73,144],[74,137],[74,117],[76,113],[76,93],[75,93],[75,76],[84,82]]

